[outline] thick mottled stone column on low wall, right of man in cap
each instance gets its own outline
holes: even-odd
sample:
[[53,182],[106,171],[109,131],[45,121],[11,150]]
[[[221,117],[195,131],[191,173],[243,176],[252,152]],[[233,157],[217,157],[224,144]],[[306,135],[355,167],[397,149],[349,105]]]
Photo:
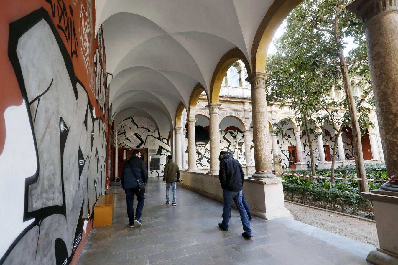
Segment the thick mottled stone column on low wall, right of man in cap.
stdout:
[[246,80],[252,87],[252,117],[253,117],[253,143],[254,164],[256,174],[254,177],[275,177],[266,171],[272,170],[271,139],[269,137],[267,91],[265,90],[265,79],[269,74],[255,72]]

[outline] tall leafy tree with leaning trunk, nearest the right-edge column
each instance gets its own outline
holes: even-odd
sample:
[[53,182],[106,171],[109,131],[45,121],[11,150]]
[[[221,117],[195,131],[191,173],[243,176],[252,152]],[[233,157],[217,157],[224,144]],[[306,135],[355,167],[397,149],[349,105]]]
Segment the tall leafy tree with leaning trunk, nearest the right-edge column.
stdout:
[[[337,88],[345,91],[345,103],[329,103],[328,106],[332,104],[332,107],[338,108],[346,104],[349,115],[345,122],[351,125],[353,131],[357,177],[366,178],[361,135],[371,124],[366,117],[369,109],[363,106],[365,99],[370,95],[371,82],[368,78],[369,66],[365,37],[361,29],[362,22],[345,10],[349,2],[304,0],[287,18],[285,33],[278,41],[278,48],[281,48],[284,56],[291,59],[287,68],[297,71],[308,85],[330,88],[338,84]],[[347,38],[353,39],[358,46],[349,52],[346,58],[344,48]],[[363,83],[368,84],[362,97],[354,97],[350,74],[361,76]],[[320,81],[319,78],[325,80]],[[371,97],[367,101],[372,103]],[[360,118],[363,119],[362,122]],[[360,181],[359,184],[361,191],[369,191],[366,181]]]

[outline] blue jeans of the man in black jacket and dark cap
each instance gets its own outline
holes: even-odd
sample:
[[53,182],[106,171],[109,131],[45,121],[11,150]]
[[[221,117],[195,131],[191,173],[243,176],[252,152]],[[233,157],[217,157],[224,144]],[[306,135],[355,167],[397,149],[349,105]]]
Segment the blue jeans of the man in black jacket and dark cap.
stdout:
[[235,202],[236,208],[238,208],[240,219],[242,221],[243,231],[249,236],[252,236],[252,229],[250,229],[250,221],[248,214],[246,213],[245,207],[242,203],[243,191],[229,191],[224,190],[224,209],[222,211],[222,226],[228,229],[229,224],[229,213],[231,211],[232,199]]

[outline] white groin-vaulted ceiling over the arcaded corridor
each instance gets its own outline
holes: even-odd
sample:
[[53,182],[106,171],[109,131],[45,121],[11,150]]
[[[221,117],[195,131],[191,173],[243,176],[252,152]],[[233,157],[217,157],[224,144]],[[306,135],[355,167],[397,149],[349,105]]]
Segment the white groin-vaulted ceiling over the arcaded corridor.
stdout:
[[102,25],[113,75],[112,120],[141,110],[170,130],[178,104],[189,106],[195,85],[210,95],[213,73],[228,50],[239,48],[252,64],[254,37],[272,2],[96,0],[96,32]]

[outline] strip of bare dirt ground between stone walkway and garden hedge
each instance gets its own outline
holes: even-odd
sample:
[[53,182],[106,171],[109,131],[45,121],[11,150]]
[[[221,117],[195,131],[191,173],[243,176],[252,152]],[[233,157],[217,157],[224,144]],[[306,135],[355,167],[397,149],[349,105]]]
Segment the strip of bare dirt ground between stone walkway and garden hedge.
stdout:
[[285,206],[297,221],[378,247],[375,222],[331,213],[322,209],[313,209],[287,201],[285,201]]

